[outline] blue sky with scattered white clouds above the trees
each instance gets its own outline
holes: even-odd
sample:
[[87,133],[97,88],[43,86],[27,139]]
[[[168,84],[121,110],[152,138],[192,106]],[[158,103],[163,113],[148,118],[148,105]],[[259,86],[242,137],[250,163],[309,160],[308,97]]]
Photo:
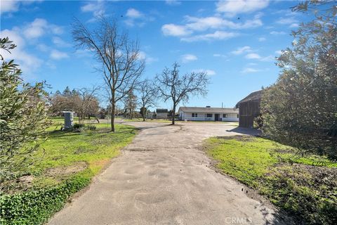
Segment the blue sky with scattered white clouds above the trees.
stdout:
[[[206,71],[205,98],[190,106],[233,107],[276,81],[275,56],[291,45],[291,30],[307,18],[291,12],[298,1],[2,1],[1,37],[18,48],[6,58],[20,64],[27,82],[46,80],[51,91],[101,84],[91,53],[76,49],[71,23],[95,26],[95,15],[119,20],[140,41],[152,78],[175,61],[180,71]],[[159,107],[171,108],[159,101]]]

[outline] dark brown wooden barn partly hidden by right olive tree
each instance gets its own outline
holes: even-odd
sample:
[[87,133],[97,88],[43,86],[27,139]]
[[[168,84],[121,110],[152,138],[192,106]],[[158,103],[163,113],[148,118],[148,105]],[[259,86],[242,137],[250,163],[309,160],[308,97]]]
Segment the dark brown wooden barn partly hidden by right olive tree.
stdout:
[[263,90],[254,91],[235,105],[239,108],[239,127],[253,127],[254,118],[260,115],[262,92]]

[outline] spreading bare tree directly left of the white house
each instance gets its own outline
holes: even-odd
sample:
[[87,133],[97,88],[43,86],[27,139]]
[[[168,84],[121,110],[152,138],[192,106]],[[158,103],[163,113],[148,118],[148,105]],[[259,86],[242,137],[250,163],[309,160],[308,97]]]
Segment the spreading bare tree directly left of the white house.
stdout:
[[208,93],[209,77],[206,72],[191,72],[179,75],[178,63],[173,63],[172,70],[165,68],[155,81],[159,94],[164,101],[169,99],[173,103],[172,124],[175,122],[176,107],[180,102],[187,103],[190,95],[205,96]]

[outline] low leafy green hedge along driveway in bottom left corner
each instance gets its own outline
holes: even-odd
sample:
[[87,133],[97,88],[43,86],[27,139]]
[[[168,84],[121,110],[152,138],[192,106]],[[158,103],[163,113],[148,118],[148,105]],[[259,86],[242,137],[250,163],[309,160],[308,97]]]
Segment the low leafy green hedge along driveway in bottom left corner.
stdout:
[[0,224],[43,224],[89,183],[90,179],[77,176],[53,188],[1,195]]

